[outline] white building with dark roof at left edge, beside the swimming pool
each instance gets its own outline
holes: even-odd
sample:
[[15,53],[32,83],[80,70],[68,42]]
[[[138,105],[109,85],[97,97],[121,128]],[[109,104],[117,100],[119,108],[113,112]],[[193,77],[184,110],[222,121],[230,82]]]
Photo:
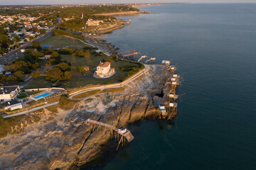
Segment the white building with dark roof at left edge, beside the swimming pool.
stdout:
[[0,102],[12,101],[21,93],[19,86],[0,87]]

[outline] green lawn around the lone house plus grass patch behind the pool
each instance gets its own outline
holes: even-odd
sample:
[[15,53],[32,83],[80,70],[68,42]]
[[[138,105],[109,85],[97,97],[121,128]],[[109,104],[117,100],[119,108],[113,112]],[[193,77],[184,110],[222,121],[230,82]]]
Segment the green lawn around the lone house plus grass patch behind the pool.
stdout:
[[[112,84],[118,83],[122,81],[125,77],[127,77],[128,72],[122,72],[120,67],[125,66],[132,66],[134,63],[126,62],[126,61],[119,61],[116,62],[112,60],[110,57],[107,56],[90,56],[89,60],[86,60],[85,57],[77,57],[74,55],[62,55],[63,60],[67,60],[68,62],[72,63],[72,75],[73,77],[69,81],[59,81],[60,87],[65,89],[79,89],[82,86],[93,86],[93,85],[100,85],[100,84]],[[96,79],[92,77],[92,72],[87,73],[87,76],[82,76],[79,72],[76,71],[76,67],[79,66],[89,66],[90,69],[96,68],[97,64],[100,63],[102,59],[110,60],[111,67],[114,67],[116,70],[116,74],[114,76],[107,78],[107,79]],[[139,67],[139,64],[137,65]],[[36,88],[43,88],[48,87],[54,84],[54,82],[46,81],[45,77],[40,77],[38,79],[34,79],[26,84],[26,89],[36,89]]]

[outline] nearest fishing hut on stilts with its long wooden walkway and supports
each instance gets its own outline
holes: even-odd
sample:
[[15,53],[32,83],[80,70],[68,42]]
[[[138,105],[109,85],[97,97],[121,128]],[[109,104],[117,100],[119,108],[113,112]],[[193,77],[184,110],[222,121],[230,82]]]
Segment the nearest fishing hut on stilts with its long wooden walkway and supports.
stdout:
[[115,128],[113,125],[109,125],[107,123],[102,123],[96,120],[92,120],[90,118],[88,118],[86,120],[86,123],[91,123],[93,125],[99,125],[99,127],[103,127],[103,128],[109,128],[110,130],[113,130],[113,136],[114,136],[114,140],[119,141],[118,145],[117,145],[117,149],[119,147],[119,145],[122,145],[122,147],[125,145],[125,142],[131,142],[132,140],[134,140],[134,136],[132,135],[132,133],[127,130],[127,128]]

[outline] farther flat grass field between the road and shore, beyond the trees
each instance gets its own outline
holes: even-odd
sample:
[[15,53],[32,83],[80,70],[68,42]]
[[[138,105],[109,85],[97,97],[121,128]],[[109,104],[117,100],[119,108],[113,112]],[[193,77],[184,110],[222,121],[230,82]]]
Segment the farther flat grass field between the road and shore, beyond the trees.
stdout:
[[46,38],[46,40],[41,41],[40,45],[50,45],[51,49],[55,48],[73,48],[73,49],[82,49],[83,47],[92,47],[91,45],[87,45],[80,40],[76,40],[73,38],[68,38],[65,36],[50,36]]

